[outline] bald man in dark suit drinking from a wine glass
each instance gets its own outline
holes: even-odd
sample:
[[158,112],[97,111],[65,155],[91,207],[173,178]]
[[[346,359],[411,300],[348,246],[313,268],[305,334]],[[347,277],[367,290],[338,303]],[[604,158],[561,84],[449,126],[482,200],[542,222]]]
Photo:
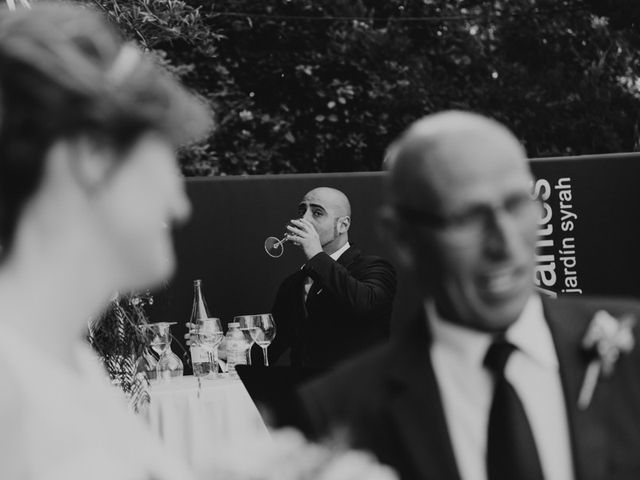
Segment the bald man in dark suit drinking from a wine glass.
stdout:
[[334,188],[311,190],[298,205],[287,238],[306,262],[278,290],[272,360],[291,348],[291,365],[325,369],[388,338],[395,271],[349,243],[350,225],[349,199]]

